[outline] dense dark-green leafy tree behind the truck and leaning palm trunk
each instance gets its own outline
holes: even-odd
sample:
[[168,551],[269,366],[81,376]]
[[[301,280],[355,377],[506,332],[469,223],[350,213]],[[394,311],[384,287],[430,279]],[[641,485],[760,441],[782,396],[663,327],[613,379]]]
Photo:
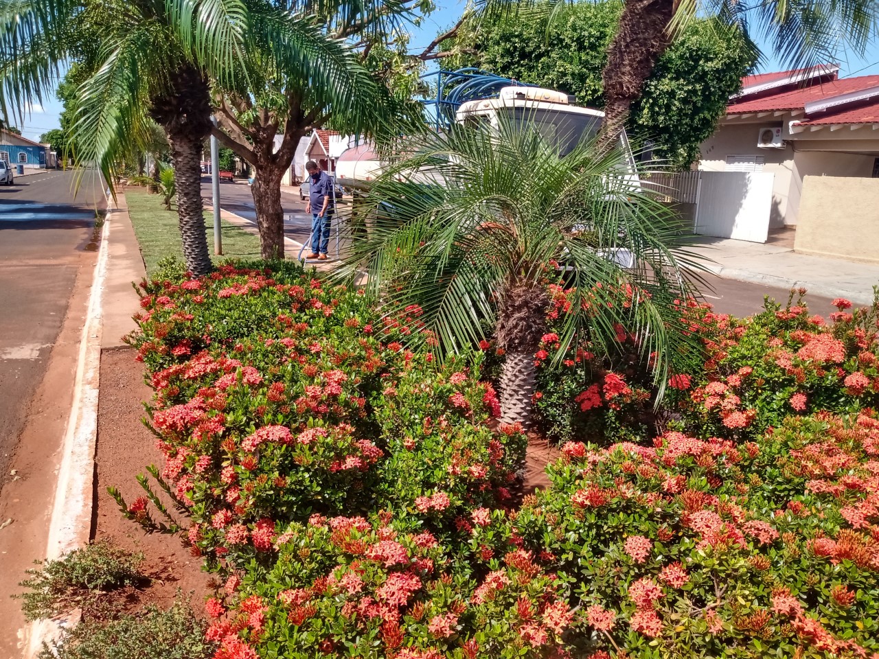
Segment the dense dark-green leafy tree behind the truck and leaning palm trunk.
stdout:
[[[454,52],[449,68],[478,66],[525,83],[539,84],[577,97],[579,105],[604,107],[602,70],[614,39],[623,4],[562,4],[551,21],[546,11],[490,22],[460,31],[458,40],[440,46]],[[549,21],[549,26],[548,26]],[[475,37],[475,40],[474,40]],[[738,91],[741,76],[755,55],[736,29],[703,19],[686,25],[679,39],[659,57],[641,98],[628,117],[629,134],[657,144],[654,153],[679,168],[699,156],[699,145],[712,134]]]

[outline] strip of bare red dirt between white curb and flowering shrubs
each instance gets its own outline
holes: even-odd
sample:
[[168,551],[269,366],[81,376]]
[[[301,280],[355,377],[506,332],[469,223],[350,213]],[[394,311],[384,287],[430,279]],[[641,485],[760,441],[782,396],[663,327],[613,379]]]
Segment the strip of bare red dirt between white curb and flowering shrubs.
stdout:
[[127,347],[101,353],[95,539],[110,539],[144,554],[142,570],[152,581],[132,604],[167,607],[180,590],[184,596],[192,593],[193,609],[201,614],[205,598],[214,590],[211,577],[201,571],[201,559],[191,556],[177,536],[143,532],[140,525],[122,517],[107,494],[108,486],[116,487],[131,503],[143,494],[134,476],[146,473],[150,464],[161,464],[156,438],[141,423],[146,414],[142,402],[149,401],[152,390],[144,383],[143,367],[134,355]]

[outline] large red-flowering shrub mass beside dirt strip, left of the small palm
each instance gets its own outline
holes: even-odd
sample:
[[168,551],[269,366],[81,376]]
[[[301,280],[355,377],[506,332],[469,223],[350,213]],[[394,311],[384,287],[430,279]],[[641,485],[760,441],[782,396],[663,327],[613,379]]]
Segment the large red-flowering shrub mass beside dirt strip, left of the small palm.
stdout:
[[[441,531],[509,498],[524,437],[486,425],[498,402],[479,358],[438,366],[403,348],[418,309],[382,319],[362,294],[283,267],[145,291],[131,341],[156,390],[158,480],[208,558],[271,560],[278,529],[312,513],[409,509]],[[127,513],[147,522],[147,507]]]

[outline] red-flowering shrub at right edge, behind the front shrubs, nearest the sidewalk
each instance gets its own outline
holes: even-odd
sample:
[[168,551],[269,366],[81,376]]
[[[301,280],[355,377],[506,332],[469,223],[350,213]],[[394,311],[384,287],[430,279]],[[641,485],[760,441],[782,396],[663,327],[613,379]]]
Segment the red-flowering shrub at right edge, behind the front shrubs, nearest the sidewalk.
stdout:
[[830,322],[810,315],[800,298],[767,302],[766,311],[737,321],[708,308],[708,359],[701,373],[670,380],[675,409],[701,437],[745,438],[788,415],[854,412],[879,405],[879,305],[852,309],[835,300]]

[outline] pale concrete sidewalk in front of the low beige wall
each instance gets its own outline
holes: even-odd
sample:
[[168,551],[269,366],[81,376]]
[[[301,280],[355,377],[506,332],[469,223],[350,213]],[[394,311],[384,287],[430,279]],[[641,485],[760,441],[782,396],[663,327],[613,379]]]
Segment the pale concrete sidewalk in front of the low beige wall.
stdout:
[[714,261],[708,270],[723,279],[752,284],[798,288],[829,298],[843,297],[855,304],[873,303],[879,285],[879,265],[837,258],[797,254],[789,247],[697,236],[691,252]]

